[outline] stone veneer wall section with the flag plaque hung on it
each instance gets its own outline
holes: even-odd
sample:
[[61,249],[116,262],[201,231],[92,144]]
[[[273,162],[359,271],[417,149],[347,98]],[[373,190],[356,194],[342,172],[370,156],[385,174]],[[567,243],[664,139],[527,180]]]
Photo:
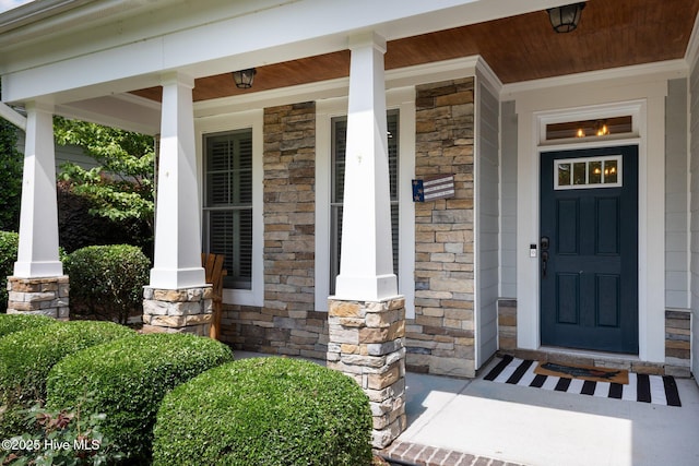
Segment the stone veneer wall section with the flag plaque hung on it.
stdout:
[[414,372],[475,375],[473,132],[473,77],[417,86],[415,177],[453,174],[455,195],[415,204]]

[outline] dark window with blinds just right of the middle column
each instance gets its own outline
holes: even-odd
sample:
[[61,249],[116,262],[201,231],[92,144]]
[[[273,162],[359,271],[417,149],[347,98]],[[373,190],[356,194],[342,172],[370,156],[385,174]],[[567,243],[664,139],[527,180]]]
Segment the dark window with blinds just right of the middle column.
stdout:
[[224,287],[252,287],[252,130],[204,136],[204,250],[224,254]]

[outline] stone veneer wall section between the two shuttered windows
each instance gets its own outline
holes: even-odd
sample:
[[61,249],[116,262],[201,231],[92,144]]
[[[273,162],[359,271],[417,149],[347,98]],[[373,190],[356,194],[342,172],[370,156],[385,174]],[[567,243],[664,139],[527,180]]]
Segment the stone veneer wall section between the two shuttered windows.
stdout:
[[316,104],[264,109],[264,307],[224,304],[238,349],[325,359],[328,314],[315,302]]

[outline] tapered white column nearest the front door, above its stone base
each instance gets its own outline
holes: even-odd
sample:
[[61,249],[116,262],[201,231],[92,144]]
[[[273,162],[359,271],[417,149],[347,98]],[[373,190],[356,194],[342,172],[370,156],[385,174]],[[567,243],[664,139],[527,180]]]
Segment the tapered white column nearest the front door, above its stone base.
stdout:
[[335,298],[380,301],[398,295],[393,274],[386,122],[386,39],[351,38],[350,103],[340,275]]

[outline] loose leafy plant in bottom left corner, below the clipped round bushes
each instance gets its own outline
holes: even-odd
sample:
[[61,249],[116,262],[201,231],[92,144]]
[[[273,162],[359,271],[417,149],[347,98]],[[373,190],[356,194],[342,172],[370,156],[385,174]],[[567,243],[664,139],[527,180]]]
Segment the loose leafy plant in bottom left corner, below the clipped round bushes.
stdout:
[[10,449],[0,451],[0,464],[103,465],[123,457],[102,433],[104,414],[84,416],[82,404],[72,410],[36,405],[27,414],[25,433],[9,439]]

